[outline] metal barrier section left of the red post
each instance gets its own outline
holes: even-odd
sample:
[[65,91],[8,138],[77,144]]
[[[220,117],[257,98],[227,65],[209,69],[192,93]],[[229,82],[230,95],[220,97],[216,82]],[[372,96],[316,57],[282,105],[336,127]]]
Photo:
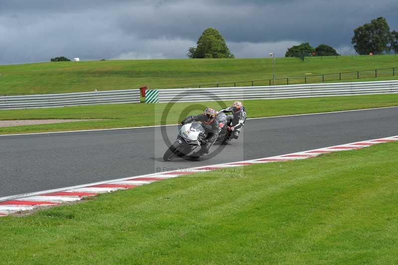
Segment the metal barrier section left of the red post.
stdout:
[[0,97],[0,110],[139,102],[139,89],[68,94],[4,96]]

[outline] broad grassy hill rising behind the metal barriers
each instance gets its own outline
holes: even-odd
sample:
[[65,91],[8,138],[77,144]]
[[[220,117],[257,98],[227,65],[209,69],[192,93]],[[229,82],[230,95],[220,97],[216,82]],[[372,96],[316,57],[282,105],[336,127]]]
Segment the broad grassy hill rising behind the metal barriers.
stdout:
[[[304,62],[298,58],[276,58],[275,72],[277,78],[283,78],[388,67],[398,67],[398,56],[311,57]],[[369,77],[373,75],[369,74]],[[48,62],[1,65],[0,95],[85,92],[144,85],[158,88],[270,78],[271,58]],[[332,78],[335,79],[337,77]]]

